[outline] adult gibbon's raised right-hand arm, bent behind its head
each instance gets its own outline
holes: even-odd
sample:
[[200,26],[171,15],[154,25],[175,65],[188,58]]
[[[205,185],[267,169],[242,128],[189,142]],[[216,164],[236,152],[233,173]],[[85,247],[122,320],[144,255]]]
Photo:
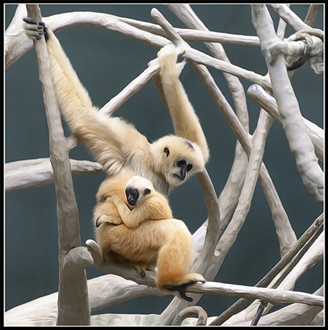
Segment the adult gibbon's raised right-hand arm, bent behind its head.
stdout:
[[209,148],[198,117],[189,102],[179,76],[184,63],[176,63],[174,45],[165,45],[157,54],[161,63],[161,84],[165,100],[172,117],[174,132],[201,147],[205,163],[209,158]]

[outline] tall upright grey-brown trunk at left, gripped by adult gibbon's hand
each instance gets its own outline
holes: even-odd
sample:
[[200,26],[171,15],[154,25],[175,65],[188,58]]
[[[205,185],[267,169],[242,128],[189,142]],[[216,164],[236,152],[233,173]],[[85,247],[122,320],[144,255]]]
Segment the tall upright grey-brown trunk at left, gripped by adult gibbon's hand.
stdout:
[[[41,21],[38,5],[26,5],[28,15]],[[57,325],[90,325],[88,287],[83,267],[62,269],[65,256],[75,246],[81,245],[79,215],[74,197],[68,153],[70,140],[65,138],[61,126],[61,113],[52,87],[50,63],[44,39],[34,41],[43,90],[45,113],[49,128],[50,162],[54,169],[59,228],[59,297]]]

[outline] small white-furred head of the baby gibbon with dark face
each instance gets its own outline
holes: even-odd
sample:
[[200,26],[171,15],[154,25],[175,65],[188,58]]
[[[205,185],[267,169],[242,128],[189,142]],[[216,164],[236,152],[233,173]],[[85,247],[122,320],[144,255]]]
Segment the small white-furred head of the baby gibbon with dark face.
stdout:
[[137,206],[145,198],[149,197],[151,192],[154,190],[152,182],[145,179],[144,177],[139,177],[134,175],[125,186],[125,196],[127,203],[130,206]]

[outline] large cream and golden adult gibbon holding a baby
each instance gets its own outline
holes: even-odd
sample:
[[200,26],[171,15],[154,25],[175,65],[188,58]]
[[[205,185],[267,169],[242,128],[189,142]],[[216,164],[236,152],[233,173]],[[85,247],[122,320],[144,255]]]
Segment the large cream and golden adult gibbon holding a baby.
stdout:
[[[156,265],[156,285],[160,289],[178,291],[183,298],[191,299],[185,296],[185,287],[203,281],[203,276],[185,274],[194,252],[192,236],[183,221],[141,221],[147,218],[141,217],[130,219],[125,225],[122,223],[124,215],[122,219],[120,207],[113,206],[111,195],[112,189],[122,188],[122,181],[127,183],[138,175],[150,180],[154,191],[167,197],[172,188],[183,184],[192,174],[201,173],[209,159],[203,129],[178,78],[183,63],[176,63],[175,47],[163,47],[158,52],[158,61],[161,62],[161,85],[176,135],[166,135],[150,143],[122,118],[99,113],[52,30],[45,28],[43,22],[23,20],[30,38],[41,39],[42,34],[45,35],[52,80],[63,116],[74,136],[88,146],[107,173],[97,192],[93,219],[99,225],[95,234],[103,254],[105,257],[115,255],[117,260],[132,262],[141,269]],[[145,203],[148,200],[143,199]],[[160,208],[166,203],[162,200]],[[165,208],[157,212],[161,214]],[[136,223],[139,225],[134,228]]]

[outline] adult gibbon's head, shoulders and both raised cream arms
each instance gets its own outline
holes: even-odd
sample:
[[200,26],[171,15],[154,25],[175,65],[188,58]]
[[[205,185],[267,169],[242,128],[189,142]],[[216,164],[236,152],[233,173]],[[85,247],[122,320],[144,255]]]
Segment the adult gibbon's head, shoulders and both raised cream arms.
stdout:
[[72,133],[80,142],[85,142],[101,163],[108,180],[116,175],[140,175],[149,179],[156,191],[167,196],[192,174],[203,171],[209,158],[207,141],[178,78],[183,64],[176,63],[174,45],[163,47],[158,52],[158,60],[161,62],[161,85],[176,135],[166,135],[150,143],[122,118],[99,113],[52,30],[45,28],[42,22],[23,20],[30,38],[41,39],[41,35],[45,35],[61,111]]

